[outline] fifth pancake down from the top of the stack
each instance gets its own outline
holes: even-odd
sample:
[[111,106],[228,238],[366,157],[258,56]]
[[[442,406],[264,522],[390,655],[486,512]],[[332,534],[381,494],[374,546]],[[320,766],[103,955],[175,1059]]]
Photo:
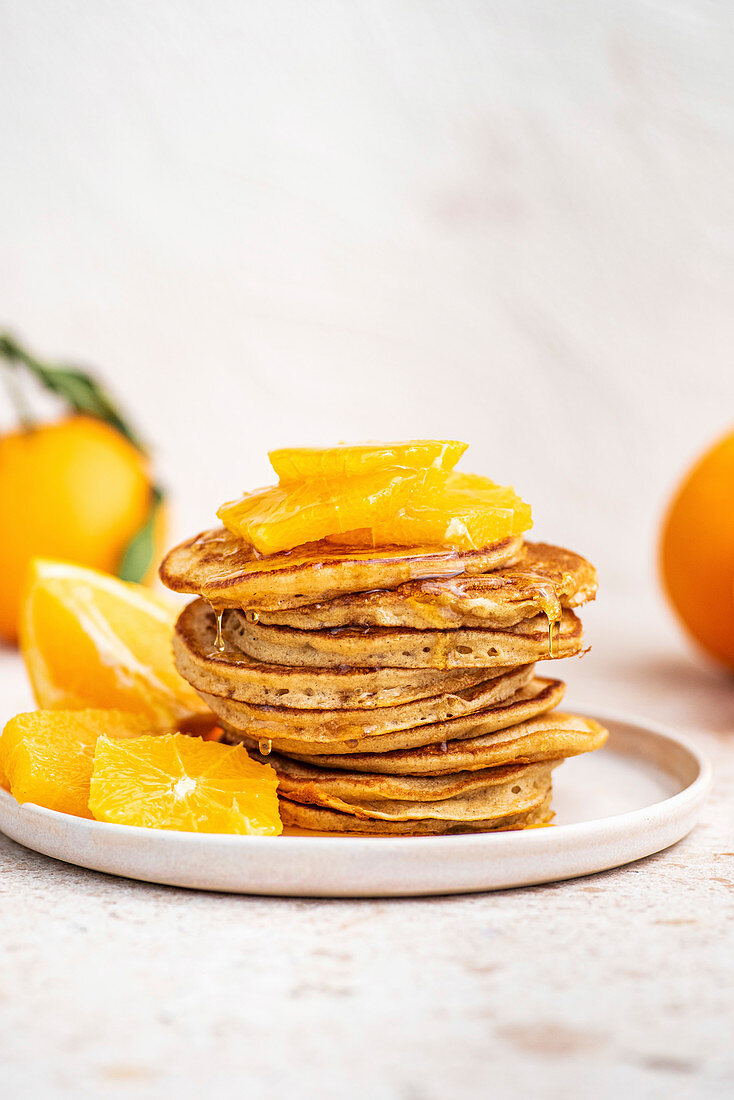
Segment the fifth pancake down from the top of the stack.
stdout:
[[298,707],[258,706],[238,702],[237,727],[247,729],[252,737],[314,737],[350,738],[388,734],[396,729],[410,729],[427,723],[474,714],[510,698],[524,688],[533,676],[532,664],[516,669],[497,670],[499,675],[462,691],[429,695],[427,698],[403,703],[399,706],[380,706],[372,710],[342,707],[332,711],[304,711]]

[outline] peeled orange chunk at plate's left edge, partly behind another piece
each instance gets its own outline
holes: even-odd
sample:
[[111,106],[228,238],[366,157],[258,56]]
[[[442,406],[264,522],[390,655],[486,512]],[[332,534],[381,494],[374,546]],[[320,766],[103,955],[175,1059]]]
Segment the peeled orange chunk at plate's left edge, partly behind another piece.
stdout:
[[139,737],[150,722],[120,711],[32,711],[18,714],[0,738],[0,768],[19,802],[91,817],[89,780],[100,734]]

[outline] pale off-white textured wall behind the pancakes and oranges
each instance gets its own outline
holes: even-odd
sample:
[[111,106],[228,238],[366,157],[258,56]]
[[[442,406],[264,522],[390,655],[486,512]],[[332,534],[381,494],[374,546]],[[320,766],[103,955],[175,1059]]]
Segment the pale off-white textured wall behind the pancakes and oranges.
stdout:
[[177,534],[292,441],[448,435],[639,590],[732,421],[725,0],[3,0],[0,322]]

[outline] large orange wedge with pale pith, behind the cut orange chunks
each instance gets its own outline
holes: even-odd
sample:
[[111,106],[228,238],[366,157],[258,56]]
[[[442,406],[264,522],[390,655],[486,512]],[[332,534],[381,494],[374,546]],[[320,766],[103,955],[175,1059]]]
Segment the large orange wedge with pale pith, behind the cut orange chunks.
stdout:
[[35,559],[21,650],[44,707],[112,707],[158,727],[213,725],[171,653],[175,609],[139,584]]

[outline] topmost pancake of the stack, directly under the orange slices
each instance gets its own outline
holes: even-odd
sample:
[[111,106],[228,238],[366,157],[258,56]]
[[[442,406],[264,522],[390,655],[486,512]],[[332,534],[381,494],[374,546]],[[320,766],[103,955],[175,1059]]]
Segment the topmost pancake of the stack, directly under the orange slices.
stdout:
[[511,565],[522,549],[519,536],[464,551],[436,547],[340,550],[320,541],[262,557],[218,527],[171,550],[158,573],[166,587],[204,596],[215,607],[278,610],[428,576],[484,573]]

